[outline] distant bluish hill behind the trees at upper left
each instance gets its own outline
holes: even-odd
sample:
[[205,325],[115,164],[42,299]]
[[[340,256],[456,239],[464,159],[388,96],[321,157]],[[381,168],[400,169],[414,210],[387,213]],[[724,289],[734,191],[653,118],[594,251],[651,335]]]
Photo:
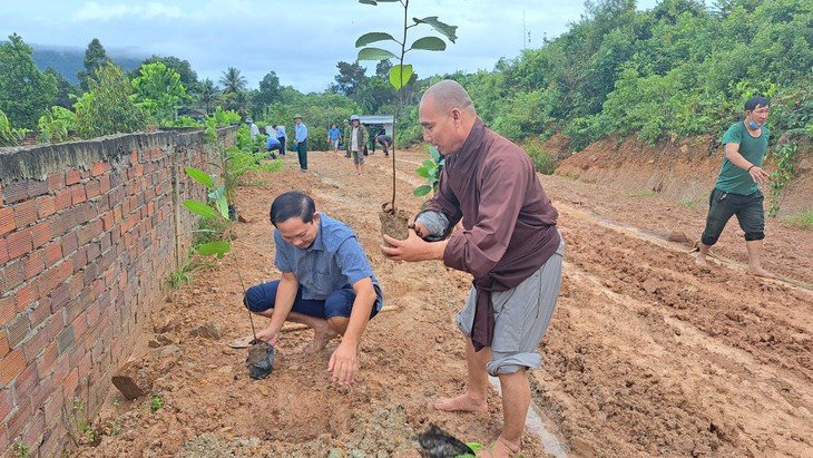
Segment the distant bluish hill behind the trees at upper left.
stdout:
[[[31,45],[31,48],[33,48],[31,58],[40,71],[45,71],[46,68],[52,67],[62,75],[65,79],[70,81],[71,85],[79,84],[77,74],[85,69],[85,50],[87,48],[69,48],[48,45]],[[115,49],[108,49],[107,56],[125,71],[133,71],[137,69],[141,65],[141,61],[149,57],[138,57],[133,53],[127,53],[126,51],[116,51]]]

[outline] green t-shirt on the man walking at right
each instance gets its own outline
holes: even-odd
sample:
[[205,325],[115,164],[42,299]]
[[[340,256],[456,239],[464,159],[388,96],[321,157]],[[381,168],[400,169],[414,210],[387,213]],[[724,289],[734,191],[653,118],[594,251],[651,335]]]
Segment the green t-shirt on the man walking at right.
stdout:
[[[726,144],[735,143],[739,145],[739,154],[743,157],[751,164],[762,167],[762,163],[765,159],[765,152],[767,152],[767,138],[770,135],[767,128],[763,127],[762,134],[758,137],[752,137],[748,134],[748,128],[745,127],[745,123],[739,121],[728,127],[728,130],[723,135],[723,150],[725,152]],[[728,158],[723,159],[723,167],[719,169],[719,176],[714,187],[726,193],[744,196],[760,191],[760,187],[754,183],[751,175],[734,165]]]

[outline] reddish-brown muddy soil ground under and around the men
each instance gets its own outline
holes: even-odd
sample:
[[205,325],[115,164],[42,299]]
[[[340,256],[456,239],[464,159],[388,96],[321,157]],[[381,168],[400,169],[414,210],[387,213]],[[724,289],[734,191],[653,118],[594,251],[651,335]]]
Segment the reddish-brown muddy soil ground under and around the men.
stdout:
[[[411,194],[422,184],[413,170],[427,156],[399,152],[396,205],[412,214],[422,202]],[[149,339],[175,343],[178,364],[148,397],[112,393],[95,421],[107,433],[79,456],[419,457],[414,435],[430,422],[463,441],[497,437],[496,392],[488,412],[432,408],[435,397],[466,387],[452,320],[470,277],[439,262],[383,257],[378,213],[391,195],[390,160],[371,156],[363,177],[339,154],[311,153],[308,174],[295,157],[282,160],[283,172],[247,177],[238,189],[247,223],[237,225],[234,252],[154,311],[141,348]],[[531,373],[533,402],[567,455],[813,456],[813,292],[805,288],[813,232],[770,220],[764,264],[785,280],[755,279],[736,224],[713,250],[719,259],[698,267],[688,251],[702,208],[565,176],[540,179],[561,214],[567,252],[559,305],[540,344],[543,366]],[[352,387],[326,372],[336,342],[316,355],[295,353],[308,330],[284,334],[263,380],[248,377],[247,350],[226,345],[252,332],[244,288],[278,276],[267,214],[288,189],[310,193],[319,211],[356,231],[394,308],[368,327]],[[679,240],[673,233],[687,241],[668,241]],[[209,321],[225,330],[219,339],[190,335]],[[157,339],[161,328],[168,331]],[[163,407],[151,409],[156,396]],[[531,433],[522,447],[526,457],[548,456]]]

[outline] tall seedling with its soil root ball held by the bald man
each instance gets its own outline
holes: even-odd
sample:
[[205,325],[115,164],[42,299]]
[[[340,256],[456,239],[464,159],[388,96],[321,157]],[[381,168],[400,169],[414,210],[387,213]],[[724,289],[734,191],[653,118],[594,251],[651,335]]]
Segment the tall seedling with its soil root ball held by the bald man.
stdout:
[[[398,90],[398,108],[395,109],[395,117],[393,119],[393,137],[395,137],[395,126],[398,119],[401,116],[403,108],[403,89],[412,78],[413,70],[411,64],[404,64],[404,56],[411,50],[425,50],[425,51],[442,51],[445,49],[445,41],[438,37],[421,37],[412,41],[408,47],[408,33],[412,28],[419,26],[429,26],[439,33],[443,35],[449,41],[454,42],[458,39],[456,35],[457,26],[450,26],[438,20],[437,16],[427,17],[423,19],[412,18],[412,22],[409,21],[409,6],[410,0],[359,0],[359,3],[378,6],[379,3],[401,3],[403,8],[403,27],[400,32],[400,38],[395,38],[386,32],[369,32],[364,33],[355,41],[355,47],[361,48],[359,50],[359,57],[356,60],[382,60],[382,59],[395,59],[398,65],[390,69],[390,84]],[[394,42],[398,47],[396,52],[389,51],[383,48],[371,47],[371,43],[375,42]],[[406,225],[409,224],[409,214],[403,209],[395,207],[395,145],[392,146],[392,199],[382,204],[381,213],[379,218],[381,220],[381,232],[395,238],[404,240],[409,235]]]

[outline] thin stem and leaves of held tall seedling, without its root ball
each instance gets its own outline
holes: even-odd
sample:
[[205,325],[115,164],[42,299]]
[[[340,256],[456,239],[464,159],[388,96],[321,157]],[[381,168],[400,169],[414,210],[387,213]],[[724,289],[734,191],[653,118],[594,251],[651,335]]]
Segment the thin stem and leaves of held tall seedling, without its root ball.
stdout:
[[[454,40],[458,39],[456,35],[456,30],[458,29],[457,26],[450,26],[448,23],[441,22],[438,20],[437,16],[427,17],[423,19],[412,18],[413,23],[409,22],[409,6],[410,0],[359,0],[359,3],[363,4],[370,4],[370,6],[378,6],[379,3],[401,3],[401,7],[403,7],[403,27],[399,32],[401,33],[401,38],[396,39],[390,33],[386,32],[369,32],[364,33],[355,41],[356,48],[362,48],[359,50],[359,57],[356,60],[382,60],[382,59],[396,59],[398,65],[393,66],[392,69],[390,69],[390,84],[398,90],[398,107],[395,109],[395,117],[393,119],[393,138],[395,137],[395,125],[398,124],[398,119],[401,116],[401,109],[403,108],[403,88],[410,82],[410,79],[413,76],[412,65],[411,64],[404,64],[404,56],[406,52],[411,50],[425,50],[425,51],[442,51],[445,49],[445,41],[438,37],[421,37],[417,40],[412,41],[411,45],[409,45],[409,48],[406,47],[408,42],[408,32],[410,29],[418,27],[418,26],[429,26],[435,31],[443,35],[449,41],[454,42]],[[370,43],[379,42],[379,41],[392,41],[395,45],[398,45],[396,53],[393,53],[386,49],[376,48],[376,47],[370,47]],[[392,202],[391,202],[391,211],[395,212],[395,145],[393,144],[392,150]]]

